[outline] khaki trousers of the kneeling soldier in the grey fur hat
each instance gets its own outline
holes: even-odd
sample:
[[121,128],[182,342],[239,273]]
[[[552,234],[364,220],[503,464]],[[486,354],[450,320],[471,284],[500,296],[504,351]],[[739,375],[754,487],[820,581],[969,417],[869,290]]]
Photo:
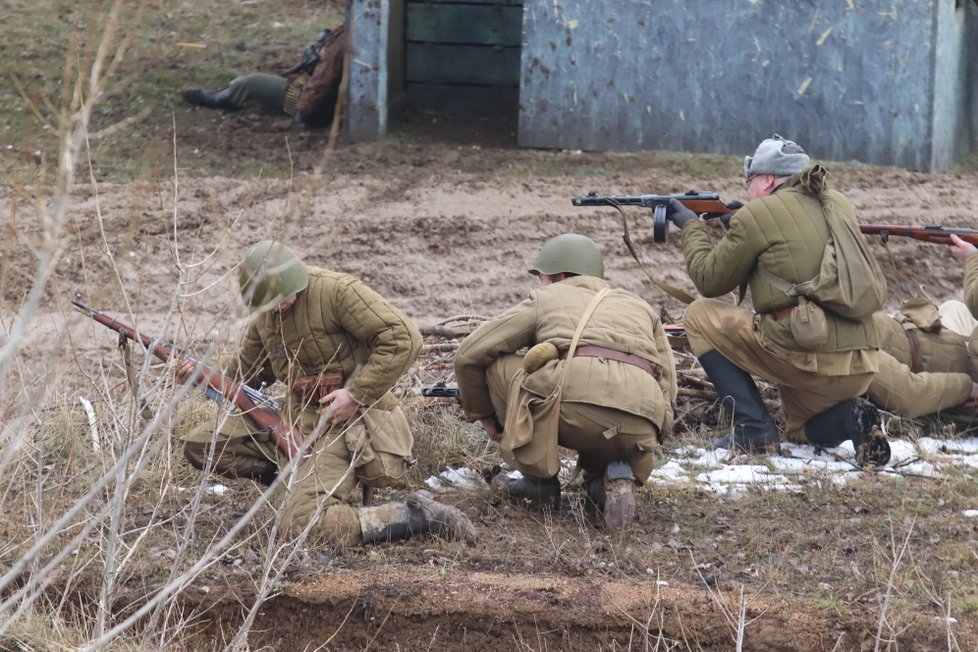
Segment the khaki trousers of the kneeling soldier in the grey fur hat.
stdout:
[[716,299],[698,299],[683,318],[690,348],[700,357],[716,350],[744,371],[781,392],[785,438],[807,442],[805,423],[817,414],[866,392],[874,374],[820,376],[801,371],[765,346],[754,314]]

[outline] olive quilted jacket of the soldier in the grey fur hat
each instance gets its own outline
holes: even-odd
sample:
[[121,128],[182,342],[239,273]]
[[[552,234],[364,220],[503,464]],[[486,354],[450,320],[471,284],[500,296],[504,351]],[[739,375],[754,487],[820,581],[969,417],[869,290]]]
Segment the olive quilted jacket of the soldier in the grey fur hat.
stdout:
[[[815,351],[804,351],[791,335],[790,321],[776,320],[771,314],[796,301],[768,283],[758,264],[791,283],[808,281],[818,274],[829,239],[824,209],[801,185],[801,176],[791,177],[773,194],[738,210],[715,246],[701,222],[688,222],[682,234],[690,278],[707,297],[724,295],[746,282],[760,316],[761,334],[776,347],[797,353],[787,354],[794,366],[829,375],[876,371],[879,338],[871,315],[852,320],[826,311],[828,341]],[[826,196],[838,215],[856,219],[845,196],[834,190]]]

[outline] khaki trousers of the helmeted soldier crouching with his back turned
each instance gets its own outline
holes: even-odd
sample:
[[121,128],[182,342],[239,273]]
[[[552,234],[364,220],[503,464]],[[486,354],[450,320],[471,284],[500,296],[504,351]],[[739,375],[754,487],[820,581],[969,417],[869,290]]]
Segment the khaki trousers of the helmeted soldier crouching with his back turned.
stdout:
[[[522,365],[522,357],[505,355],[486,370],[489,398],[500,422],[506,420],[509,386]],[[603,477],[609,463],[624,460],[636,481],[644,484],[652,473],[658,435],[659,429],[644,417],[592,403],[560,404],[557,443],[577,451],[585,482]]]

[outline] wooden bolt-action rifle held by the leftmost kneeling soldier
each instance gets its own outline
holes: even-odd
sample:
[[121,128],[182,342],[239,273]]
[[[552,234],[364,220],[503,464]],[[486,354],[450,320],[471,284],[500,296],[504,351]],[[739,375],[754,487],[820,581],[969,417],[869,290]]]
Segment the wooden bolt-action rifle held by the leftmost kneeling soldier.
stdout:
[[302,433],[285,422],[277,414],[279,406],[272,399],[256,389],[237,383],[228,376],[214,371],[195,358],[175,349],[172,344],[164,342],[159,338],[138,333],[132,326],[128,326],[117,319],[109,317],[105,313],[95,310],[91,306],[86,305],[81,299],[75,299],[71,303],[83,314],[88,315],[106,328],[118,333],[120,346],[124,346],[126,339],[130,339],[133,342],[142,344],[144,349],[163,362],[168,361],[173,356],[193,362],[197,366],[194,372],[194,376],[198,379],[196,382],[206,387],[209,398],[217,402],[227,399],[234,403],[244,416],[251,419],[258,428],[268,433],[272,441],[275,442],[275,445],[283,453],[288,455],[289,459],[301,455],[299,445],[302,442]]

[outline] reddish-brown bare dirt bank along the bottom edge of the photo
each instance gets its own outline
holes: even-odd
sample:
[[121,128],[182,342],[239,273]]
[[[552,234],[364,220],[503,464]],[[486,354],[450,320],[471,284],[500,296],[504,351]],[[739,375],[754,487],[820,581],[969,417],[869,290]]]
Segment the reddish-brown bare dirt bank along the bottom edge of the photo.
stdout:
[[[241,621],[236,598],[224,595],[206,605],[208,624],[196,639],[202,648],[221,648]],[[732,585],[437,567],[333,572],[267,602],[248,644],[271,650],[731,650],[740,635],[743,649],[758,651],[875,644],[877,621],[868,610],[826,617],[790,596],[744,596],[741,620],[741,592]],[[205,608],[203,601],[195,606]],[[957,636],[959,642],[968,638]],[[915,623],[898,645],[946,649],[947,637],[946,625],[933,619]]]

